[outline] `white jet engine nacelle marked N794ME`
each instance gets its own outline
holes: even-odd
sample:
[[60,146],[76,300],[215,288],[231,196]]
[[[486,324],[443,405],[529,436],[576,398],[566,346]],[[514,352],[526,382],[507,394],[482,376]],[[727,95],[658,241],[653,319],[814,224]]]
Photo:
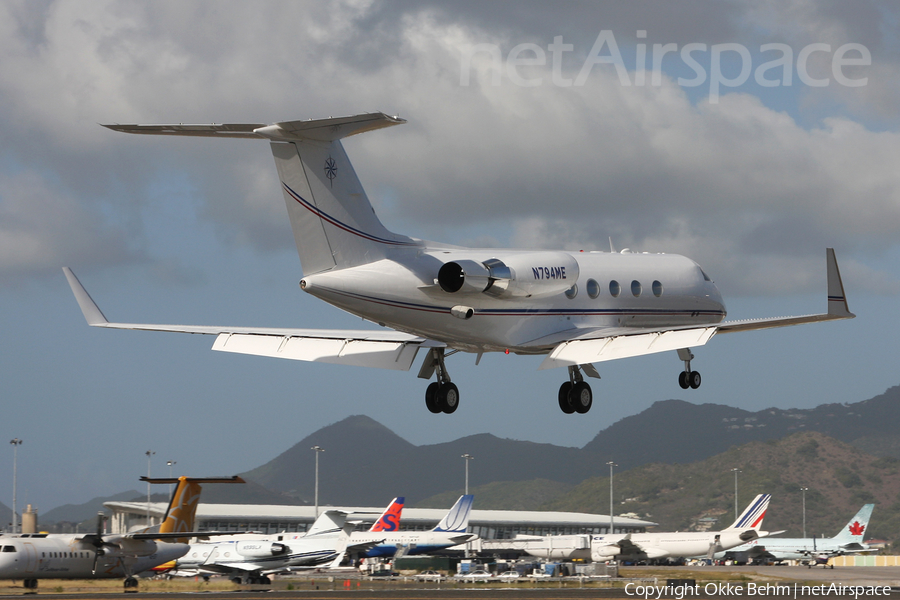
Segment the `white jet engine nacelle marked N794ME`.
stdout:
[[551,296],[575,285],[578,261],[567,252],[522,252],[483,261],[460,259],[444,263],[437,281],[448,294]]

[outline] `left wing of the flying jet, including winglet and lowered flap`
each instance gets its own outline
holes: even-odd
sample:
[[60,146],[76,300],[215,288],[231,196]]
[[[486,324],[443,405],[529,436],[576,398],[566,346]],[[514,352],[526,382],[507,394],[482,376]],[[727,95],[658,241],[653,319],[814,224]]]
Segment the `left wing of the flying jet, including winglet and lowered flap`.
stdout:
[[111,323],[78,281],[75,273],[68,267],[63,267],[63,272],[88,325],[110,329],[215,335],[216,340],[212,349],[222,352],[408,371],[416,359],[419,348],[444,345],[393,330],[280,329]]

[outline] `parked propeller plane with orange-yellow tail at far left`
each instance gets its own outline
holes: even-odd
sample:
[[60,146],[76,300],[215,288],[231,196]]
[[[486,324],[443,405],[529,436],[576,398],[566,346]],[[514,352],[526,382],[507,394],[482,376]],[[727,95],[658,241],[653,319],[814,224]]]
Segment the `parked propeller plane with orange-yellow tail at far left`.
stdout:
[[190,547],[187,538],[219,534],[193,531],[201,484],[244,483],[240,477],[141,477],[141,481],[178,484],[166,516],[158,526],[123,534],[105,534],[101,513],[95,533],[2,535],[0,579],[21,579],[26,589],[34,590],[39,579],[124,577],[126,588],[136,587],[135,573],[182,556]]

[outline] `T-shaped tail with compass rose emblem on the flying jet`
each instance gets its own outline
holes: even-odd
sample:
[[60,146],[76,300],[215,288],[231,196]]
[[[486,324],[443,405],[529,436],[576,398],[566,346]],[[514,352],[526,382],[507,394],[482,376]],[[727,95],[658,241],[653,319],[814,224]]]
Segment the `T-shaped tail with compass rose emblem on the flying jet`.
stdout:
[[265,124],[106,125],[126,133],[266,138],[305,275],[367,264],[417,243],[381,224],[341,139],[405,123],[384,113]]

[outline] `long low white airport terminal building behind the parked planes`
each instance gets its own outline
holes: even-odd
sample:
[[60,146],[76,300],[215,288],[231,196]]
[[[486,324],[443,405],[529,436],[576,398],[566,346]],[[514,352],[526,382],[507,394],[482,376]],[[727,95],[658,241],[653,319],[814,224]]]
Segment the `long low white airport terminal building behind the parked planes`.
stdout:
[[[125,533],[133,527],[158,524],[165,515],[163,502],[106,502],[112,511],[110,533]],[[338,509],[352,513],[352,520],[361,521],[358,529],[368,529],[384,511],[384,507],[320,506],[319,512]],[[447,509],[404,508],[401,529],[427,531],[447,514]],[[199,504],[195,527],[197,531],[258,531],[260,533],[303,532],[315,520],[312,506],[284,506],[263,504]],[[616,533],[640,533],[656,523],[616,517]],[[469,531],[484,540],[512,539],[516,536],[572,535],[579,533],[608,533],[609,516],[573,512],[545,512],[520,510],[476,510],[469,516]]]

